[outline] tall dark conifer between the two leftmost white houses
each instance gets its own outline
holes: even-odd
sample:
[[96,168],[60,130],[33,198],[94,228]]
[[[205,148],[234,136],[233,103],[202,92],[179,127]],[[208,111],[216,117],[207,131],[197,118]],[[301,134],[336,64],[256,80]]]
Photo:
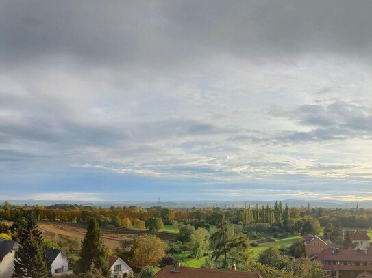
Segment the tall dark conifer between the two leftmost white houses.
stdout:
[[14,276],[47,278],[49,267],[42,245],[42,234],[31,215],[26,224],[20,227],[19,240],[21,247],[18,258],[14,260]]

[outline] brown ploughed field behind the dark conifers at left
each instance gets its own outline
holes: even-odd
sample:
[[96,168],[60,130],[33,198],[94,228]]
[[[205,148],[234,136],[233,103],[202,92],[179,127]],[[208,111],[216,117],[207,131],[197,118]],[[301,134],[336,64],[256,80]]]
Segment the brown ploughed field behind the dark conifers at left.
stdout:
[[[86,234],[85,224],[64,223],[64,222],[39,222],[39,229],[48,240],[55,236],[60,238],[76,238],[82,240]],[[102,238],[108,249],[119,247],[122,238],[135,238],[144,234],[154,234],[165,242],[175,241],[175,234],[169,232],[152,232],[148,230],[132,230],[122,227],[101,227]]]

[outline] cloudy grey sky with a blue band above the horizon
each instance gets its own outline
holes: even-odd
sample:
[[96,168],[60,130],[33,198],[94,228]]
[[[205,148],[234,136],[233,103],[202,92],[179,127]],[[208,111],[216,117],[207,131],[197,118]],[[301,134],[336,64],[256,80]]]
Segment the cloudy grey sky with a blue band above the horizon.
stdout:
[[0,199],[372,199],[372,1],[0,1]]

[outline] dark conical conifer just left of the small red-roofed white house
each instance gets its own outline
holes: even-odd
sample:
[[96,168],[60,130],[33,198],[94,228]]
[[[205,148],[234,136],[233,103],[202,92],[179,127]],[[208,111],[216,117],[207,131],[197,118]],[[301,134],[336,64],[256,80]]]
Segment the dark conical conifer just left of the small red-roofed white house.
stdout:
[[80,273],[86,273],[94,266],[101,271],[103,277],[110,277],[110,266],[108,265],[108,249],[106,249],[101,238],[101,230],[95,218],[90,219],[84,240],[82,251],[77,262]]

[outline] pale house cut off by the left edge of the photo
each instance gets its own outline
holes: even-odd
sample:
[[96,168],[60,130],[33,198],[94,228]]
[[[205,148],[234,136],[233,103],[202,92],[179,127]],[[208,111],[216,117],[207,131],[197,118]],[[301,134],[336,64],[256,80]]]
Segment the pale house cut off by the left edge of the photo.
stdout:
[[0,277],[13,277],[13,260],[17,258],[19,244],[12,240],[0,239]]

